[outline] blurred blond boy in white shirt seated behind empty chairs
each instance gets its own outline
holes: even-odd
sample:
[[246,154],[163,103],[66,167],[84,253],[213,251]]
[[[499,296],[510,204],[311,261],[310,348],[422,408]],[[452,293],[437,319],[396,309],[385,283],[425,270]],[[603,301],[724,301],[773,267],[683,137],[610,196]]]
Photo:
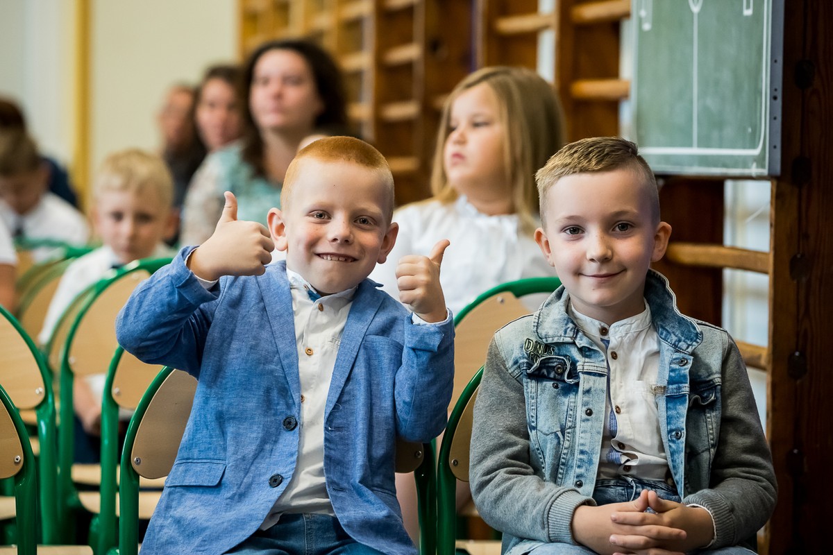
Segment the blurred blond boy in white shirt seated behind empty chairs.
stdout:
[[[41,344],[47,344],[72,300],[113,268],[172,255],[164,240],[177,224],[172,211],[173,182],[161,157],[136,149],[107,156],[93,181],[92,196],[92,221],[103,245],[67,266],[38,335]],[[98,374],[75,380],[75,412],[85,432],[76,434],[78,463],[99,458],[104,379],[104,374]]]

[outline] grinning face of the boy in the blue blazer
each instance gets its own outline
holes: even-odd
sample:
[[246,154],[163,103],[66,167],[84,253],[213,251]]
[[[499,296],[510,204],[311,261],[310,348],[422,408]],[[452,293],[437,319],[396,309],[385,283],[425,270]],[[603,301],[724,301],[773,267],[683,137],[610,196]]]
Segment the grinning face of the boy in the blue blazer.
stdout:
[[269,230],[287,268],[322,295],[350,289],[387,259],[397,236],[392,191],[379,171],[347,161],[304,158]]

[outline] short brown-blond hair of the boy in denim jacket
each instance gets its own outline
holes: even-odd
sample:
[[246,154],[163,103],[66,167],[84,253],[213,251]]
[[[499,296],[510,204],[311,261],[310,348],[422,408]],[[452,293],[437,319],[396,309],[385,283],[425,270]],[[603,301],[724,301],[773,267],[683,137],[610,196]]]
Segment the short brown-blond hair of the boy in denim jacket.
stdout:
[[535,179],[541,198],[541,217],[546,214],[546,193],[561,177],[627,168],[633,171],[651,197],[651,218],[660,222],[660,197],[651,166],[639,154],[636,143],[618,136],[595,136],[571,142],[538,170]]

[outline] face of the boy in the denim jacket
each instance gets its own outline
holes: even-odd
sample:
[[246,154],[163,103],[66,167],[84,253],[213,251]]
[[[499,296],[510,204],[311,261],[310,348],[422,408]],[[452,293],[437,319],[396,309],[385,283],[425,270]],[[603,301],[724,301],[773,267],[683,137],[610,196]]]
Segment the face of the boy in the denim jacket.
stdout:
[[546,231],[535,234],[575,310],[608,325],[645,310],[648,268],[671,235],[640,177],[629,168],[561,177],[546,191]]

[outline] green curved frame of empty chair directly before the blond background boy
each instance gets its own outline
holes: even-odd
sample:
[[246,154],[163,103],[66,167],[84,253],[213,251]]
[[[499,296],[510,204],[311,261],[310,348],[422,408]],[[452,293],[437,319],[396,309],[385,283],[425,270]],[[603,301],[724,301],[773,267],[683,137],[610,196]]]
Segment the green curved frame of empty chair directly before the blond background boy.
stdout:
[[[58,429],[58,468],[60,468],[60,472],[58,473],[57,497],[59,508],[61,508],[62,511],[70,513],[67,514],[67,518],[63,519],[63,522],[67,525],[67,530],[64,531],[67,535],[71,534],[72,529],[74,528],[72,513],[82,509],[82,504],[78,498],[77,488],[75,483],[72,482],[71,472],[75,444],[75,429],[72,425],[75,416],[75,411],[72,405],[72,389],[75,384],[71,354],[73,341],[76,339],[78,328],[82,324],[82,320],[87,315],[87,312],[105,290],[115,284],[118,280],[121,280],[133,272],[144,270],[152,274],[159,268],[162,268],[162,266],[170,263],[170,261],[170,258],[143,259],[134,260],[130,264],[124,265],[121,269],[115,271],[114,274],[107,275],[105,278],[92,285],[88,290],[84,291],[81,295],[78,295],[76,300],[72,302],[72,305],[69,309],[67,309],[67,312],[64,315],[65,318],[72,318],[72,325],[69,328],[66,340],[60,347],[60,403],[58,414],[60,422],[65,424],[61,425]],[[59,322],[58,326],[60,325],[61,323]],[[56,330],[58,326],[56,326]],[[54,339],[55,338],[53,337],[52,340]],[[50,345],[50,349],[51,348],[52,345]],[[115,342],[112,348],[115,348]],[[106,370],[107,369],[102,368],[102,372]],[[93,537],[92,543],[95,542],[97,542],[97,539]]]

